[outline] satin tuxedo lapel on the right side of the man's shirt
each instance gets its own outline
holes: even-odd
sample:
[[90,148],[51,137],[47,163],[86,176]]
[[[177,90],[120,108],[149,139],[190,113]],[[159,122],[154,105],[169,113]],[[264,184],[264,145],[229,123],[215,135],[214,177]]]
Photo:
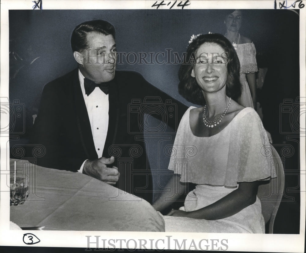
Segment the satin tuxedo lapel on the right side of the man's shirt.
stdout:
[[110,82],[108,101],[109,101],[108,130],[103,149],[103,156],[106,158],[110,157],[108,152],[109,147],[115,143],[117,128],[118,128],[118,120],[119,120],[119,105],[118,105],[119,89],[116,77]]

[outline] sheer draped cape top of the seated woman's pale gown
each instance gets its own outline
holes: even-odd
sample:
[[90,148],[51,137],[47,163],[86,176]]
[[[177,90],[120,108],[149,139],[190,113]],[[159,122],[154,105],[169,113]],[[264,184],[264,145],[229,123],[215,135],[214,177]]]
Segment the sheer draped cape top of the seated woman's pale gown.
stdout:
[[[168,168],[181,175],[181,182],[234,188],[239,182],[276,177],[273,161],[278,154],[254,109],[241,110],[221,132],[198,137],[189,125],[192,108],[178,127]],[[273,156],[267,152],[272,149]]]

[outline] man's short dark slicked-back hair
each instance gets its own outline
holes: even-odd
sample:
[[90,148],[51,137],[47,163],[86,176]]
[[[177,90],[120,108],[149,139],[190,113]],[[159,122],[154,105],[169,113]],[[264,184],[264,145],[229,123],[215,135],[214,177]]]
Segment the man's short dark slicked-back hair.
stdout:
[[115,28],[112,24],[105,20],[85,21],[74,28],[71,35],[72,51],[81,52],[88,48],[87,34],[88,32],[98,32],[103,35],[113,35],[115,39]]

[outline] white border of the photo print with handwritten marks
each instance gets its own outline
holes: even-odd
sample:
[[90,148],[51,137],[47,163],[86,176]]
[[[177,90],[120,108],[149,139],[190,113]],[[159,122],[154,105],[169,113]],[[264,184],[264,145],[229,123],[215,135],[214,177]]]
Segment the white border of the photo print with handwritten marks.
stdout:
[[[170,1],[170,0],[169,0]],[[169,2],[167,1],[167,2]],[[36,1],[37,2],[37,1]],[[73,4],[72,4],[73,2]],[[100,1],[100,0],[43,0],[43,9],[154,9],[151,6],[154,1]],[[160,1],[159,1],[160,2]],[[180,2],[180,1],[178,1]],[[185,1],[183,1],[185,2]],[[195,1],[191,0],[189,6],[184,9],[274,9],[274,1]],[[277,3],[282,1],[276,1]],[[289,3],[294,2],[288,1]],[[306,1],[303,1],[306,5]],[[9,97],[9,9],[32,9],[34,3],[31,0],[1,0],[1,83],[0,97]],[[159,8],[162,9],[162,8]],[[181,9],[174,6],[173,9]],[[278,8],[279,9],[279,8]],[[156,10],[159,11],[159,10]],[[289,9],[288,9],[289,11]],[[300,9],[300,96],[305,95],[305,42],[306,42],[306,6]],[[304,101],[305,102],[305,101]],[[1,126],[7,125],[9,115],[1,115]],[[305,130],[305,118],[300,119],[301,129]],[[1,133],[1,170],[8,168],[9,161],[8,135]],[[258,251],[258,252],[304,252],[304,235],[305,235],[305,135],[300,136],[300,234],[214,234],[214,233],[151,233],[151,232],[104,232],[104,231],[35,231],[35,235],[40,239],[40,243],[29,245],[28,247],[87,247],[86,236],[100,236],[107,240],[112,239],[164,239],[165,241],[172,236],[180,240],[188,239],[186,245],[192,244],[194,240],[198,245],[202,239],[227,239],[228,251]],[[303,173],[304,171],[304,173]],[[9,192],[7,192],[6,177],[1,177],[1,199],[0,199],[0,245],[26,246],[23,243],[23,234],[27,233],[22,230],[9,230]],[[6,191],[6,192],[3,192]],[[31,232],[29,232],[31,233]],[[159,241],[158,245],[166,247],[166,243]],[[189,243],[189,244],[188,244]],[[153,243],[153,247],[154,247]],[[174,244],[168,245],[169,249],[174,249]],[[95,248],[91,244],[92,248]],[[100,244],[102,247],[102,244]],[[116,244],[119,247],[119,244]],[[223,247],[224,248],[224,247]],[[166,248],[165,248],[166,249]],[[188,248],[187,248],[188,249]],[[194,247],[191,247],[194,249]],[[211,248],[210,248],[211,249]]]

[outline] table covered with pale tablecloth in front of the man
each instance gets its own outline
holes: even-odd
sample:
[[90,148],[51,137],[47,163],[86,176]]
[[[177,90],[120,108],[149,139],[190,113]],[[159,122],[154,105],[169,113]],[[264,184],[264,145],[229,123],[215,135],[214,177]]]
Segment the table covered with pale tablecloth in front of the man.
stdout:
[[10,169],[29,175],[27,201],[10,207],[10,221],[43,230],[164,231],[164,221],[145,200],[82,173],[10,159]]

